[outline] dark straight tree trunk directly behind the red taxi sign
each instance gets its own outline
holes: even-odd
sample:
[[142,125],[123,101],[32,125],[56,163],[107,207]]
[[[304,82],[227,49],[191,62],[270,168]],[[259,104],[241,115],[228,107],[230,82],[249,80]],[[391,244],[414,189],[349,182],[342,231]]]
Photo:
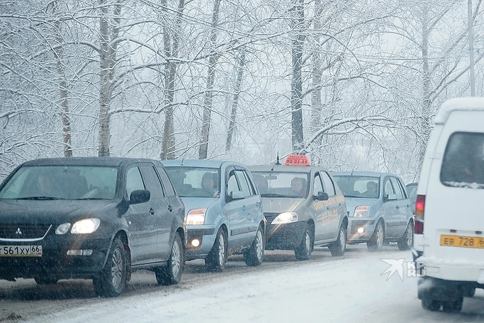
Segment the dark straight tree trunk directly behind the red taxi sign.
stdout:
[[291,139],[294,152],[300,152],[304,141],[302,132],[302,45],[304,34],[304,8],[301,0],[295,0],[294,17],[291,21],[292,30],[297,30],[292,41],[292,80],[291,80]]

